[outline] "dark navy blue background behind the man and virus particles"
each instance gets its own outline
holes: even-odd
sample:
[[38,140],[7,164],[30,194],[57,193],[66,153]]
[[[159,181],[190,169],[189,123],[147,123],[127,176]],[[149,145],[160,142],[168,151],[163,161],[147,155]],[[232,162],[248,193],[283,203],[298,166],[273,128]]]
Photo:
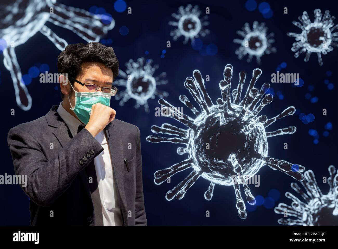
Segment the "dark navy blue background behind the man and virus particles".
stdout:
[[[258,1],[258,4],[261,1]],[[80,7],[86,10],[93,5],[93,1],[58,1],[69,6]],[[198,4],[203,13],[205,8],[210,7],[209,22],[207,28],[210,34],[201,37],[205,45],[215,44],[218,47],[216,55],[202,56],[199,51],[194,50],[190,44],[184,45],[183,38],[173,41],[169,35],[172,26],[169,21],[174,21],[171,13],[177,13],[180,5],[186,6]],[[194,69],[199,69],[205,77],[210,75],[210,82],[206,82],[206,88],[213,102],[220,97],[219,81],[222,80],[224,66],[231,63],[234,67],[233,87],[238,82],[238,74],[241,70],[246,70],[248,78],[246,80],[246,89],[250,80],[251,72],[259,67],[263,73],[257,82],[260,88],[262,83],[270,82],[271,74],[282,62],[287,63],[285,69],[281,72],[299,73],[300,78],[304,80],[303,87],[291,87],[288,83],[272,83],[276,91],[281,91],[284,99],[280,100],[274,96],[273,102],[265,107],[264,113],[268,118],[279,114],[288,106],[295,106],[297,113],[313,113],[315,120],[309,124],[304,124],[298,114],[286,117],[268,127],[268,131],[295,125],[297,131],[291,135],[284,135],[269,138],[269,152],[271,157],[283,159],[292,163],[304,165],[306,169],[312,169],[316,175],[319,187],[323,193],[327,193],[329,187],[323,184],[323,176],[328,177],[329,165],[337,164],[337,48],[327,55],[322,55],[323,66],[319,66],[317,55],[312,54],[308,63],[304,62],[304,54],[299,58],[294,58],[291,51],[294,38],[288,37],[287,32],[300,33],[300,29],[292,24],[297,20],[303,11],[309,13],[311,21],[314,20],[313,11],[320,8],[322,13],[329,9],[330,14],[338,16],[337,4],[332,1],[269,1],[273,16],[265,19],[259,12],[249,12],[245,8],[245,1],[127,1],[127,6],[132,8],[132,14],[126,11],[118,13],[114,10],[114,1],[95,1],[98,7],[104,7],[107,13],[110,13],[115,19],[114,29],[108,31],[107,38],[111,38],[116,55],[120,61],[120,68],[125,70],[124,63],[129,59],[136,60],[140,57],[153,59],[155,64],[159,64],[159,69],[155,75],[161,72],[167,72],[167,85],[159,86],[160,90],[169,92],[167,100],[174,106],[182,106],[178,100],[179,95],[185,94],[190,99],[191,96],[184,87],[184,80],[192,76]],[[288,7],[288,14],[283,14],[283,8]],[[205,14],[202,13],[202,16]],[[262,65],[258,66],[256,59],[251,63],[246,62],[246,58],[238,60],[235,50],[239,44],[233,43],[234,38],[240,38],[236,31],[240,30],[245,22],[252,26],[253,21],[264,21],[269,28],[268,33],[275,34],[274,47],[277,53],[264,55]],[[335,21],[337,23],[337,20]],[[47,23],[59,37],[64,38],[69,44],[85,42],[77,35],[67,29],[54,26]],[[119,33],[121,26],[127,26],[129,33],[122,36]],[[171,41],[171,48],[166,47],[167,41]],[[165,58],[161,58],[162,50],[166,49]],[[145,51],[149,51],[145,55]],[[36,63],[47,63],[50,66],[50,72],[57,72],[57,56],[60,51],[42,34],[37,33],[31,37],[25,44],[16,48],[16,54],[21,67],[22,74],[27,74],[30,67]],[[3,61],[0,55],[0,61]],[[21,110],[15,102],[14,88],[9,72],[5,69],[3,63],[0,63],[0,91],[1,91],[1,114],[2,114],[2,132],[0,137],[2,167],[0,174],[14,174],[13,162],[7,146],[7,133],[10,128],[24,122],[28,122],[44,116],[52,105],[58,105],[61,101],[60,91],[55,90],[57,84],[42,84],[39,78],[33,79],[27,86],[33,99],[32,108],[29,111]],[[327,76],[327,71],[332,75]],[[329,80],[334,84],[334,89],[329,90],[324,80]],[[308,86],[313,85],[312,96],[318,97],[318,102],[311,103],[305,98]],[[124,90],[120,87],[120,90]],[[118,101],[112,98],[111,107],[116,112],[116,118],[135,124],[141,130],[142,159],[143,159],[143,186],[144,201],[147,214],[148,225],[278,225],[277,219],[281,215],[274,213],[273,208],[267,209],[264,206],[258,206],[253,212],[248,212],[247,219],[241,220],[237,215],[236,198],[234,189],[231,186],[216,185],[213,199],[206,201],[204,192],[209,186],[209,182],[203,178],[187,191],[182,200],[172,200],[168,202],[165,194],[176,184],[182,181],[190,172],[179,172],[171,179],[171,184],[163,183],[155,185],[153,174],[156,170],[167,168],[187,158],[187,155],[180,156],[176,153],[176,148],[180,145],[171,143],[151,144],[145,139],[152,134],[151,125],[161,125],[162,123],[171,123],[181,126],[177,121],[165,118],[155,117],[154,109],[160,106],[158,98],[149,100],[150,113],[144,112],[143,107],[135,109],[135,100],[129,100],[123,107],[118,105]],[[15,109],[15,116],[10,115],[10,109]],[[328,115],[323,116],[322,110],[327,109]],[[187,111],[188,115],[190,112]],[[193,117],[191,113],[191,117]],[[324,126],[328,122],[333,124],[333,129],[329,130],[329,136],[323,137]],[[309,129],[316,129],[319,134],[319,143],[314,144],[314,138],[309,135]],[[283,149],[283,144],[288,143],[288,150]],[[231,144],[229,144],[231,146]],[[70,151],[71,153],[71,151]],[[189,172],[188,172],[189,171]],[[279,171],[273,171],[269,167],[263,167],[260,171],[261,186],[259,188],[251,187],[252,194],[268,196],[270,189],[277,189],[281,197],[275,205],[284,202],[288,205],[291,201],[284,195],[286,191],[291,191],[291,177]],[[244,195],[244,192],[242,193]],[[29,224],[29,200],[22,189],[17,185],[0,186],[0,213],[2,219],[0,225],[28,225]],[[206,210],[210,211],[210,217],[206,217]]]

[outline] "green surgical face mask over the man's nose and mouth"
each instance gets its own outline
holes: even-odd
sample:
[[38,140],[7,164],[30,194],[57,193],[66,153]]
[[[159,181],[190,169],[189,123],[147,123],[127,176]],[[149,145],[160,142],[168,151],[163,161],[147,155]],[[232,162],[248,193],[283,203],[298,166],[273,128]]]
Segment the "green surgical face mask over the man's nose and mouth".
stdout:
[[[73,88],[72,85],[70,86]],[[70,109],[74,111],[76,117],[84,124],[88,124],[89,122],[92,105],[96,103],[101,103],[102,105],[110,106],[110,99],[112,97],[110,93],[104,93],[101,91],[96,92],[75,91],[75,106],[73,107],[72,104],[70,103],[69,95],[67,96],[69,104],[72,107]]]

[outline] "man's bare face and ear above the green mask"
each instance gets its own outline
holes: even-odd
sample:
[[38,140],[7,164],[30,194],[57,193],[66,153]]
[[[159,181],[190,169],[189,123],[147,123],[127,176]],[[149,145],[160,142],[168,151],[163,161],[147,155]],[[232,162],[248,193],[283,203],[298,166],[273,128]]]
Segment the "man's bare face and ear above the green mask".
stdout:
[[[81,71],[78,76],[75,78],[80,81],[82,84],[92,84],[102,87],[111,87],[113,85],[113,71],[99,62],[85,62],[81,64]],[[81,84],[74,82],[73,88],[75,91],[79,92],[91,92],[95,91],[89,89],[86,85],[82,86]],[[63,92],[65,95],[68,95],[70,90],[72,90],[70,84],[66,85],[66,92]],[[102,88],[99,88],[98,91],[102,91]],[[67,98],[67,97],[66,97]],[[75,92],[71,91],[69,95],[70,102],[72,106],[75,105]],[[68,102],[68,101],[67,101]]]

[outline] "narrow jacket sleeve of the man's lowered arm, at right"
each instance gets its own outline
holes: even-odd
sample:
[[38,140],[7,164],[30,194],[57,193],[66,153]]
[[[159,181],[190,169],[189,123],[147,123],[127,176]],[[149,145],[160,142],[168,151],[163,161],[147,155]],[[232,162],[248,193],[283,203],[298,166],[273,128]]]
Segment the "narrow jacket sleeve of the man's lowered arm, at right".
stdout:
[[135,225],[146,226],[147,218],[143,200],[143,184],[142,184],[142,156],[141,156],[141,138],[140,130],[137,128],[137,144],[136,144],[136,200],[135,200]]

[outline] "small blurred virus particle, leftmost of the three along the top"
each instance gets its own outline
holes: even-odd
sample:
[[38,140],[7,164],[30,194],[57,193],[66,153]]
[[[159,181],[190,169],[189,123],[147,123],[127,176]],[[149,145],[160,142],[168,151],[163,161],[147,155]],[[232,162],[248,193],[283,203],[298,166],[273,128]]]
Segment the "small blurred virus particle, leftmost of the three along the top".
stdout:
[[195,38],[200,36],[206,36],[210,33],[209,29],[204,29],[204,26],[208,26],[209,22],[208,16],[203,16],[199,18],[201,12],[198,9],[198,5],[195,5],[193,8],[191,4],[188,4],[187,7],[180,6],[178,8],[178,14],[171,14],[175,18],[176,22],[169,22],[169,25],[177,27],[174,30],[171,30],[170,36],[173,37],[174,41],[177,38],[184,36],[184,44],[187,44],[189,39],[193,41]]

